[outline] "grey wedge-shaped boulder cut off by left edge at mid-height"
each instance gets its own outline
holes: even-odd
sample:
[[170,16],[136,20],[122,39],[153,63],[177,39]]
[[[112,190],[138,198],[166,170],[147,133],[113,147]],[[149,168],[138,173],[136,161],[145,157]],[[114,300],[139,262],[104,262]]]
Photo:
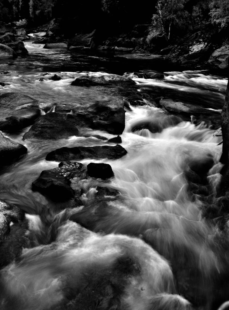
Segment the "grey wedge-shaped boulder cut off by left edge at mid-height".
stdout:
[[0,166],[6,166],[14,162],[27,152],[27,148],[9,138],[4,137],[0,132]]

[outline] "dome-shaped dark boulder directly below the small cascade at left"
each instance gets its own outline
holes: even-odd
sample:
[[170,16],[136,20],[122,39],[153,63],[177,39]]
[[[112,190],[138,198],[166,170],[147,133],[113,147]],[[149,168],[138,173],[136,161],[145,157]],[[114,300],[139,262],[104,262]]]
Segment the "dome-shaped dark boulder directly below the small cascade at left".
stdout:
[[36,119],[24,139],[64,139],[78,134],[77,121],[65,114],[48,113]]

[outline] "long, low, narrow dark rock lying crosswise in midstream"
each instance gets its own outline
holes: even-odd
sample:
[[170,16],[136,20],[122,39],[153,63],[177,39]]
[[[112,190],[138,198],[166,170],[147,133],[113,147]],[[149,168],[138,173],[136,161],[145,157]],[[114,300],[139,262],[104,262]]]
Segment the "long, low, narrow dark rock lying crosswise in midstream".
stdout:
[[71,161],[79,160],[84,158],[108,158],[108,159],[117,159],[124,155],[127,152],[125,148],[121,145],[110,146],[79,146],[74,148],[57,148],[55,151],[52,151],[47,154],[46,160],[55,160],[55,161]]

